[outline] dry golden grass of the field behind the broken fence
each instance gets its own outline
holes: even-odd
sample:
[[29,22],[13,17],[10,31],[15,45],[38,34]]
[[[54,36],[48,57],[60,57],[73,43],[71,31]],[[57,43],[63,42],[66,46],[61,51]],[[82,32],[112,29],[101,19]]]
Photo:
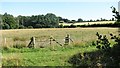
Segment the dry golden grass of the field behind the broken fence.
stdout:
[[[36,40],[44,41],[53,36],[56,40],[64,43],[66,34],[70,34],[74,43],[87,43],[96,40],[96,32],[101,34],[116,33],[118,28],[47,28],[47,29],[11,29],[1,30],[2,45],[11,46],[14,44],[28,45],[31,37],[36,37]],[[6,42],[5,42],[6,38]],[[16,40],[15,40],[16,39]],[[38,42],[39,44],[42,44]],[[45,42],[49,44],[49,41]],[[55,44],[56,45],[56,44]]]

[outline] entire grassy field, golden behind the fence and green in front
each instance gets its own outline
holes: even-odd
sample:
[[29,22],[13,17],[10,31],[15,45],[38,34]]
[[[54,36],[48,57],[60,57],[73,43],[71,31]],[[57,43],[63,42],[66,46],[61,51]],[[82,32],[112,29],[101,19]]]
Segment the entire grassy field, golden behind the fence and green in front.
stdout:
[[[71,66],[68,60],[77,53],[97,50],[91,43],[97,39],[96,32],[100,34],[117,34],[117,28],[48,28],[48,29],[15,29],[1,30],[2,32],[2,65],[4,66]],[[59,46],[56,43],[49,45],[39,42],[53,36],[61,44],[64,37],[70,34],[74,41],[70,45]],[[46,45],[44,48],[12,48],[13,45],[27,46],[31,37],[36,37],[36,47]],[[48,44],[46,44],[48,43]]]

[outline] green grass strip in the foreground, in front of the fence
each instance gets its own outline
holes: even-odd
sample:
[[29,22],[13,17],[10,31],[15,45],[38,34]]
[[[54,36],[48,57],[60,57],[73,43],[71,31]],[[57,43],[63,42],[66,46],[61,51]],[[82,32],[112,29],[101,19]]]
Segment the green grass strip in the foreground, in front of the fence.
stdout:
[[[47,48],[36,49],[16,49],[10,48],[8,51],[3,51],[4,66],[71,66],[67,61],[70,56],[79,52],[89,52],[96,50],[95,47],[55,47],[56,50]],[[14,56],[14,55],[19,56]],[[8,57],[9,56],[9,57]],[[8,62],[9,61],[9,62]]]

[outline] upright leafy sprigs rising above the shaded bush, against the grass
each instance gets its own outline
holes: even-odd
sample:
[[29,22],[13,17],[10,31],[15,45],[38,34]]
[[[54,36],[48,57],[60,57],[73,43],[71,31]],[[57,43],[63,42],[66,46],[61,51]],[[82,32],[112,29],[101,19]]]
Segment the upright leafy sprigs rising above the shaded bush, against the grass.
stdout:
[[[108,40],[106,35],[101,35],[98,32],[96,33],[96,36],[98,37],[96,40],[96,48],[101,49],[105,52],[110,52],[111,50],[111,43]],[[119,35],[113,35],[112,33],[110,33],[110,39],[113,40],[115,42],[115,44],[113,44],[113,47],[118,47],[120,46],[120,34]]]

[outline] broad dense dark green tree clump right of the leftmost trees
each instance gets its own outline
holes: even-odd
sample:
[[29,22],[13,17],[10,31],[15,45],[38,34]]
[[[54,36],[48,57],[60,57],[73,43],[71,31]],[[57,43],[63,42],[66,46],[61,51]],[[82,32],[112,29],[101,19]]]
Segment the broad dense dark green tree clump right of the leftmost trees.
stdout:
[[58,27],[59,19],[56,15],[48,13],[44,15],[18,16],[19,25],[33,28]]

